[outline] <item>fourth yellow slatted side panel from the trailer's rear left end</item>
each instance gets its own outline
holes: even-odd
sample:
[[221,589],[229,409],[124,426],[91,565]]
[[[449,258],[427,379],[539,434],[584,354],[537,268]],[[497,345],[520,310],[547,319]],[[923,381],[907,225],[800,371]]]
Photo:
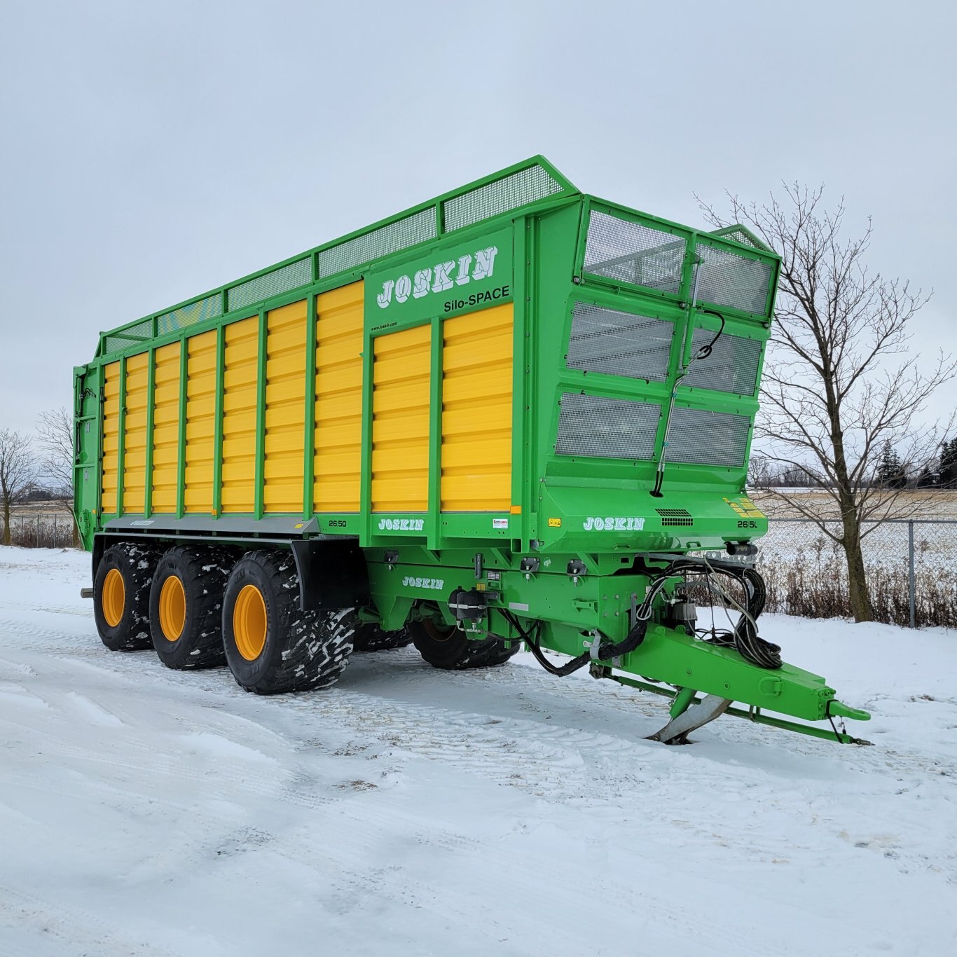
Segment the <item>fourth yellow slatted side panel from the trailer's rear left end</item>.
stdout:
[[[216,418],[216,330],[190,336],[186,359],[186,462],[183,507],[212,512],[212,459]],[[155,504],[153,506],[156,507]]]

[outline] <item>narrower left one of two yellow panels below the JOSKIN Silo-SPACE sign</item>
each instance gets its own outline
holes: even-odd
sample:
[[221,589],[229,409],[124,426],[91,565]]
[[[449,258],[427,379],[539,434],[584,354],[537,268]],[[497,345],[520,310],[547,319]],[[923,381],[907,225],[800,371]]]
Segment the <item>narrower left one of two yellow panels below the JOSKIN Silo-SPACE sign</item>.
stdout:
[[429,506],[429,364],[432,329],[375,339],[372,366],[372,511]]

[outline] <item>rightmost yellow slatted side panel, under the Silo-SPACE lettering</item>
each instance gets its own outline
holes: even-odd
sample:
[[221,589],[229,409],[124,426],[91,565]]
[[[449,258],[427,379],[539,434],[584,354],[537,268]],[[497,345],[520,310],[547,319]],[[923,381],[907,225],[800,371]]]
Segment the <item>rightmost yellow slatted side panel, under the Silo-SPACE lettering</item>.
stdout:
[[442,511],[512,503],[512,303],[442,325]]

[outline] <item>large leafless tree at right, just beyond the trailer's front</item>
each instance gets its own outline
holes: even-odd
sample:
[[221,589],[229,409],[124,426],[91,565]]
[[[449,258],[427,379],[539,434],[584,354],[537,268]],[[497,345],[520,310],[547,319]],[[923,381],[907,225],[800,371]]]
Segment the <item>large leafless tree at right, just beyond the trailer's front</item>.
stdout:
[[[864,523],[906,517],[920,507],[902,488],[874,481],[881,450],[889,442],[908,472],[933,454],[941,432],[922,412],[934,390],[957,373],[957,363],[941,352],[922,371],[920,356],[908,352],[914,318],[930,297],[912,292],[906,281],[869,272],[870,220],[863,234],[844,238],[843,200],[828,211],[823,187],[795,183],[784,192],[761,204],[728,195],[730,222],[749,227],[782,257],[756,433],[769,459],[831,497],[833,507],[822,510],[787,490],[772,492],[843,548],[851,611],[855,620],[870,621],[861,543],[877,525]],[[701,208],[715,226],[728,224],[712,207]],[[829,525],[827,512],[837,521]]]

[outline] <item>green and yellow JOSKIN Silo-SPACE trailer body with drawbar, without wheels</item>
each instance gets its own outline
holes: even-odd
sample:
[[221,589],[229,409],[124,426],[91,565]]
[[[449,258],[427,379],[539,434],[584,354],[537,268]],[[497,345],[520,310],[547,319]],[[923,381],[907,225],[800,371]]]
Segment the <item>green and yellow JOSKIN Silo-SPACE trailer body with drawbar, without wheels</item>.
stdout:
[[524,641],[676,718],[695,692],[865,718],[688,618],[689,578],[719,572],[744,631],[760,612],[745,481],[778,270],[742,227],[597,199],[533,157],[101,333],[74,370],[94,576],[122,544],[273,549],[303,614]]

